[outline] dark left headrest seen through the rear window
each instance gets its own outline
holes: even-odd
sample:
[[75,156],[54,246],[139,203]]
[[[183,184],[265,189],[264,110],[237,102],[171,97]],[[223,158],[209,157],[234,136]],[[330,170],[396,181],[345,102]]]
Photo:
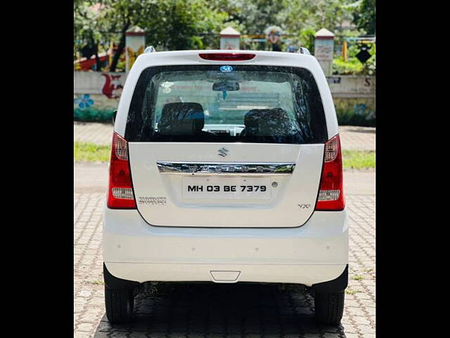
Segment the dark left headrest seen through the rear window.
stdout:
[[162,107],[158,132],[162,135],[197,135],[205,125],[205,113],[196,102],[173,102]]

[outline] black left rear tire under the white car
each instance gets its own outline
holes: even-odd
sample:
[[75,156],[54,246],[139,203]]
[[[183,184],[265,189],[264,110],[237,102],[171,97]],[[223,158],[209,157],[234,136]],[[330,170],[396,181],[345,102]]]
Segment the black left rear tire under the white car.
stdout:
[[133,307],[133,289],[111,289],[105,285],[106,317],[111,324],[129,323]]

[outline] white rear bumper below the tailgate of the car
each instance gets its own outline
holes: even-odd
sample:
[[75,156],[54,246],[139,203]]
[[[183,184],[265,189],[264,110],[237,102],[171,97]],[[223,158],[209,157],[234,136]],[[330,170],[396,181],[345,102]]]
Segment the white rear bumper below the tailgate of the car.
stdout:
[[148,225],[136,210],[105,208],[103,261],[135,282],[334,280],[348,263],[344,211],[316,211],[296,228],[188,228]]

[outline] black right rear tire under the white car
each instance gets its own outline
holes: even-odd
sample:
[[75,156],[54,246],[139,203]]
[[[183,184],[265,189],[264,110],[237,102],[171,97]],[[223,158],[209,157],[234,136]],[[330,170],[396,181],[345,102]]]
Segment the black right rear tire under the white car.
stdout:
[[316,292],[314,307],[316,320],[322,324],[338,325],[344,314],[345,294],[341,292]]

